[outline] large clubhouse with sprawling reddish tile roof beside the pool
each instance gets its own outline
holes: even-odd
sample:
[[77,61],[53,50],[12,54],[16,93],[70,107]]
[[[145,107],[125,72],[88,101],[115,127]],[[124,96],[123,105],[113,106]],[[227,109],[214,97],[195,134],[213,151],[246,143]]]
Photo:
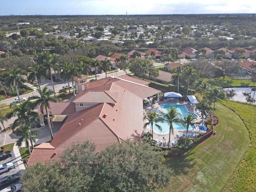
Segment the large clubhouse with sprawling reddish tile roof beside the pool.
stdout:
[[85,141],[93,142],[100,151],[126,139],[139,140],[144,124],[143,99],[161,91],[146,86],[143,80],[132,80],[109,77],[88,82],[86,90],[72,102],[50,102],[51,114],[69,116],[50,143],[33,149],[28,164],[59,160],[72,144]]

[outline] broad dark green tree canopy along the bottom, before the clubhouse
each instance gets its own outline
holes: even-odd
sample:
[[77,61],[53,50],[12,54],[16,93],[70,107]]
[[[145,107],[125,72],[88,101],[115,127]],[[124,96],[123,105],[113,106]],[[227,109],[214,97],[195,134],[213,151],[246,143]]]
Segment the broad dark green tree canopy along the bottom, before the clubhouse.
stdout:
[[[169,184],[172,168],[148,143],[126,141],[96,153],[85,142],[67,149],[60,162],[29,166],[22,175],[24,192],[149,192]],[[94,170],[96,170],[94,174]]]

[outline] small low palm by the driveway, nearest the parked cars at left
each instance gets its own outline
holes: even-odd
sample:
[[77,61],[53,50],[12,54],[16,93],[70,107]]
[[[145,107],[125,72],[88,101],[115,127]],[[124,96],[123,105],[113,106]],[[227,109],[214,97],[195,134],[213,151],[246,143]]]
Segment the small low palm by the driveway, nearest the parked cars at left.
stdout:
[[29,154],[31,154],[30,147],[29,147],[29,140],[34,148],[33,142],[36,142],[36,136],[39,135],[40,132],[38,130],[30,130],[31,126],[26,124],[24,126],[20,126],[20,128],[13,131],[16,136],[20,136],[20,138],[16,141],[16,145],[20,148],[22,143],[25,142],[26,147],[28,148]]

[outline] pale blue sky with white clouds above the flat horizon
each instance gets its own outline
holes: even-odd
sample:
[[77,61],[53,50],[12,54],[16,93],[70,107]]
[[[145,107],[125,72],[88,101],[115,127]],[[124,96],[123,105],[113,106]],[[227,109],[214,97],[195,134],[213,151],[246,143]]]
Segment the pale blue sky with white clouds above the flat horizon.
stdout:
[[241,0],[1,0],[0,15],[256,13]]

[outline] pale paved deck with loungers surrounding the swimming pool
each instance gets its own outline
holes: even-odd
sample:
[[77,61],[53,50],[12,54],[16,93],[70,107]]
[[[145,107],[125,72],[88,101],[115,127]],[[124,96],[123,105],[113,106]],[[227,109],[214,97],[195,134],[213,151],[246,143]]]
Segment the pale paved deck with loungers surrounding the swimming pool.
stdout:
[[[145,112],[148,112],[148,111],[151,111],[153,109],[158,109],[159,108],[159,105],[164,105],[164,104],[177,104],[177,105],[184,105],[186,107],[186,109],[188,110],[188,112],[192,112],[192,113],[195,113],[196,110],[194,110],[194,108],[191,108],[188,106],[188,103],[189,102],[185,102],[185,101],[179,101],[179,102],[173,102],[173,101],[159,101],[158,103],[156,104],[153,104],[147,108],[145,108]],[[195,121],[196,123],[202,123],[202,118],[198,117],[198,119]],[[188,130],[188,133],[191,133],[191,134],[201,134],[201,131],[199,130],[198,126],[200,124],[195,124],[195,127],[196,127],[196,130]],[[146,132],[150,132],[150,128],[146,128]],[[171,134],[170,136],[170,141],[175,141],[177,137],[177,134],[178,133],[181,133],[181,134],[186,134],[186,130],[173,130],[173,135]],[[158,139],[159,141],[163,140],[163,137],[166,139],[166,142],[168,142],[168,138],[169,138],[169,133],[167,134],[158,134],[156,132],[154,132],[153,134],[153,139]]]

